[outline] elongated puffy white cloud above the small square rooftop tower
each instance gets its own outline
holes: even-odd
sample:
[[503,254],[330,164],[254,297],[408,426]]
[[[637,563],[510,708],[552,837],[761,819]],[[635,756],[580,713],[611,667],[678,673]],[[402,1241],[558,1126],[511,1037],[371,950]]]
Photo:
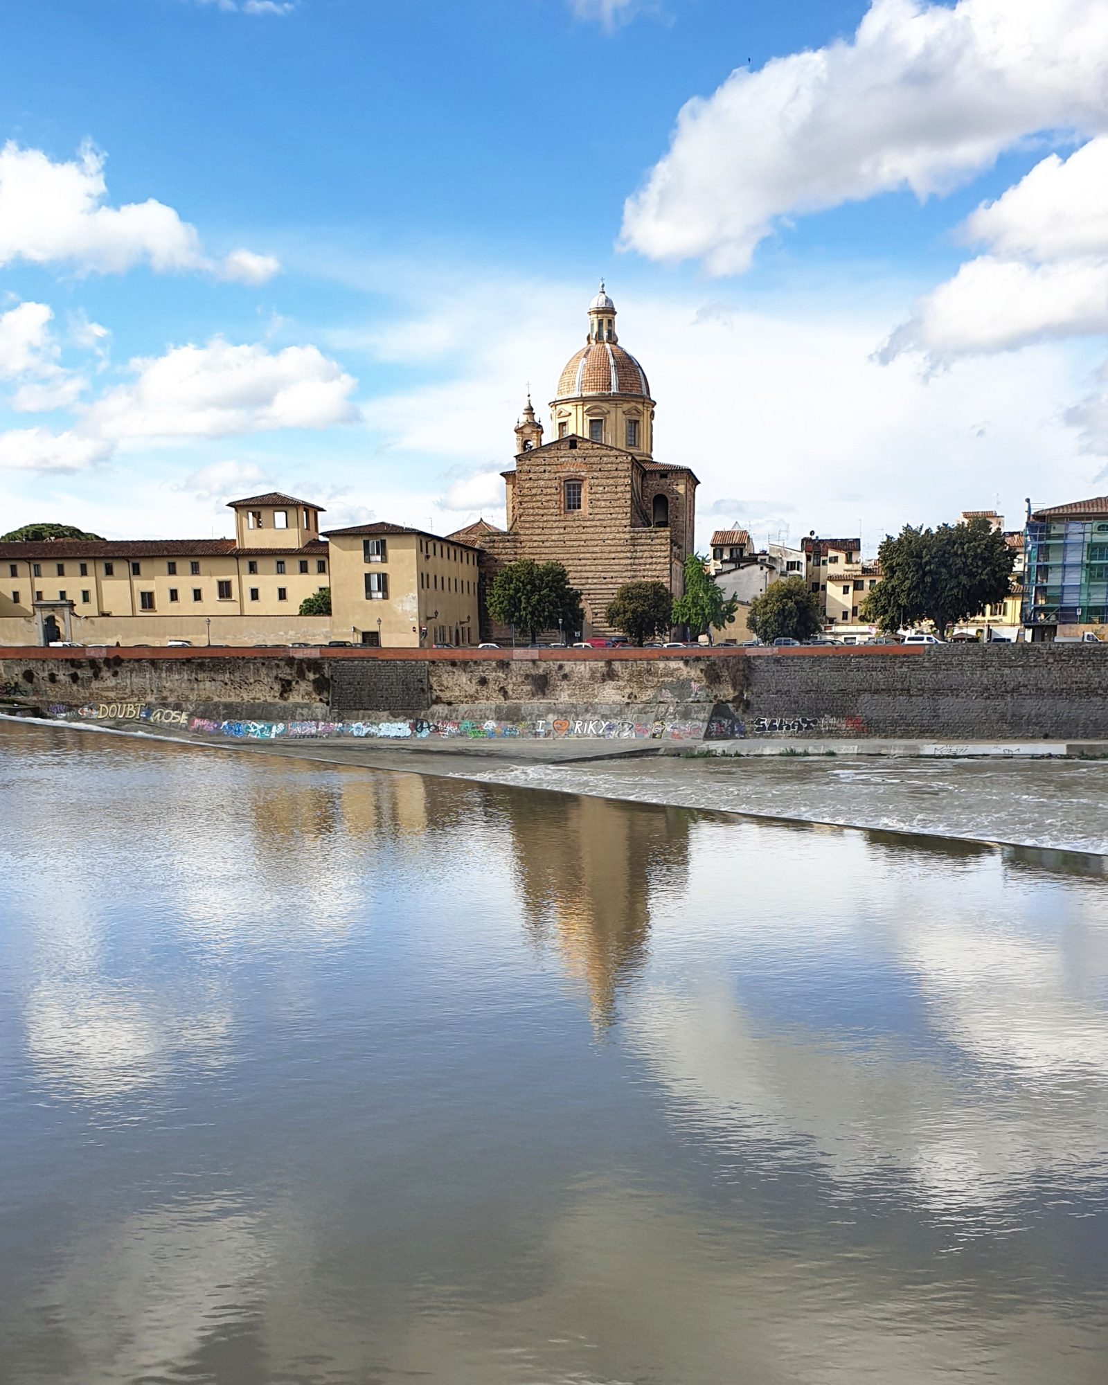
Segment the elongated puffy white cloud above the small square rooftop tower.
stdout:
[[353,422],[355,379],[316,346],[176,346],[130,361],[136,378],[102,395],[82,429],[127,439],[227,438],[274,428]]

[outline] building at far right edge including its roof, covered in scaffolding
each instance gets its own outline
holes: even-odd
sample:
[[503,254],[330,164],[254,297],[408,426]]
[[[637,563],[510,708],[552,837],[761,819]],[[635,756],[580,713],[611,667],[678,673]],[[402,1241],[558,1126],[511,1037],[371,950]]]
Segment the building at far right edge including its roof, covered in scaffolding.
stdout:
[[1028,514],[1024,626],[1035,641],[1108,626],[1108,496]]

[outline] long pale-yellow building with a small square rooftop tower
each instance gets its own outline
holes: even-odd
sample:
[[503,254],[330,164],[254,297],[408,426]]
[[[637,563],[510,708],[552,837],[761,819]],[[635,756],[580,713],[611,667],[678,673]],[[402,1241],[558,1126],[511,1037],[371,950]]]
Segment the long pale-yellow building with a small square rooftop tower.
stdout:
[[327,640],[325,616],[299,615],[330,584],[320,506],[271,492],[229,508],[234,539],[0,543],[0,641]]

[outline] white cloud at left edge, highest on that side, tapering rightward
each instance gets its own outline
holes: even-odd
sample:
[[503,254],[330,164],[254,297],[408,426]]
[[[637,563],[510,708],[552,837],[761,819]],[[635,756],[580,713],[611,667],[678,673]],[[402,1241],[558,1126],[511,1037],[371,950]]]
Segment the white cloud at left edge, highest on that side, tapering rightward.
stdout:
[[251,251],[213,260],[172,206],[154,198],[109,206],[105,198],[104,155],[91,144],[75,161],[55,163],[10,140],[0,150],[0,266],[22,260],[120,274],[145,263],[159,273],[199,270],[245,284],[280,267]]

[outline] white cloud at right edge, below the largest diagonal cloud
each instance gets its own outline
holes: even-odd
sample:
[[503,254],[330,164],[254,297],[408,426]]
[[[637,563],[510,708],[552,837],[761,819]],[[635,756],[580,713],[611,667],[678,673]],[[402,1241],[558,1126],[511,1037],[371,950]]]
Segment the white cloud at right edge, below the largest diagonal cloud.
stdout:
[[878,353],[932,363],[1108,332],[1108,137],[1051,154],[961,229],[986,252],[922,298]]

